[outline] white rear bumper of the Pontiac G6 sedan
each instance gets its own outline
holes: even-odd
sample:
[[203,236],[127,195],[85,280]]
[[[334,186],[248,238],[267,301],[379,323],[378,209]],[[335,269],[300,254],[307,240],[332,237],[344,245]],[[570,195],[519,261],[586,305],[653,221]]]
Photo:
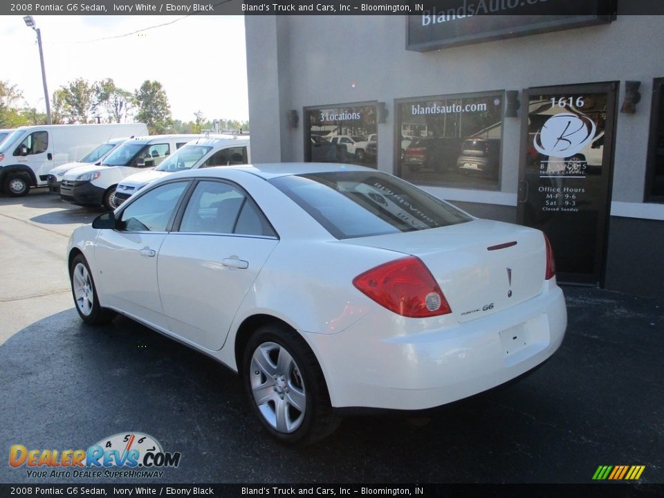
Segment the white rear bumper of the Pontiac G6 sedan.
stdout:
[[428,320],[381,309],[337,334],[303,333],[333,407],[426,409],[497,387],[560,347],[567,313],[548,281],[537,297],[477,320],[433,330]]

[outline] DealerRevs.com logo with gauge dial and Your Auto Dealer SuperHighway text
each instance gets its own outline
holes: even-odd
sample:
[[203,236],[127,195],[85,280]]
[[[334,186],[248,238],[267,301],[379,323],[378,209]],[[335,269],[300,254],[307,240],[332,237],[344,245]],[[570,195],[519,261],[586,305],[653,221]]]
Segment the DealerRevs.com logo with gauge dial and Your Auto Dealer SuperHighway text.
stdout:
[[26,468],[32,478],[162,477],[180,465],[180,452],[165,452],[148,434],[121,432],[87,450],[40,450],[12,445],[9,465]]

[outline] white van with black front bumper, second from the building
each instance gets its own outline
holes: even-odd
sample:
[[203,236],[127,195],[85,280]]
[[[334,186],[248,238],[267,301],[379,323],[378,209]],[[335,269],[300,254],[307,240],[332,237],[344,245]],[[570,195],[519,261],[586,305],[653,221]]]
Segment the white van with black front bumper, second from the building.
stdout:
[[103,205],[113,210],[120,181],[140,169],[160,165],[194,138],[203,138],[203,135],[154,135],[127,140],[100,165],[79,166],[66,172],[60,185],[60,197],[77,205]]

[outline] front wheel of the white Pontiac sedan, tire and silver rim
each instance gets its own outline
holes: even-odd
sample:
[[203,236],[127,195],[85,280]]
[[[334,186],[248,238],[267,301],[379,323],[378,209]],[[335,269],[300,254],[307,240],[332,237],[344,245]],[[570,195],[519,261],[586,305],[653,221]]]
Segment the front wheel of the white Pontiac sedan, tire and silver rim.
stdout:
[[95,281],[83,255],[77,255],[71,261],[69,283],[71,284],[71,295],[74,298],[76,311],[86,324],[107,323],[116,315],[108,308],[100,306]]

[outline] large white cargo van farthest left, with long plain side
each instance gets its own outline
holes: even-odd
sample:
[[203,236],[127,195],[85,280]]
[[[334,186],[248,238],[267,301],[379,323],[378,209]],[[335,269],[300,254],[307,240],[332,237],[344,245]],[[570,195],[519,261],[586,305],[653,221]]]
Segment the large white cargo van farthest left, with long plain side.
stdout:
[[147,134],[143,123],[51,124],[20,127],[0,144],[0,185],[20,197],[46,185],[54,167],[82,158],[104,140]]

